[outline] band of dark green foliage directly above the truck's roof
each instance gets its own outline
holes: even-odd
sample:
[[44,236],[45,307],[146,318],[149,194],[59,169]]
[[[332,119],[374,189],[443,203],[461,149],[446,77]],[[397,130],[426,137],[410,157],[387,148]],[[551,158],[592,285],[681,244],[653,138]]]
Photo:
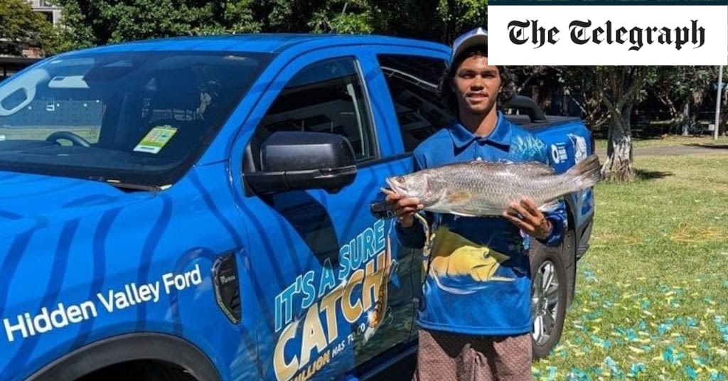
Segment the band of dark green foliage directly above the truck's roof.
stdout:
[[[13,0],[20,1],[20,0]],[[58,0],[63,49],[167,36],[385,34],[450,44],[487,23],[487,0]]]

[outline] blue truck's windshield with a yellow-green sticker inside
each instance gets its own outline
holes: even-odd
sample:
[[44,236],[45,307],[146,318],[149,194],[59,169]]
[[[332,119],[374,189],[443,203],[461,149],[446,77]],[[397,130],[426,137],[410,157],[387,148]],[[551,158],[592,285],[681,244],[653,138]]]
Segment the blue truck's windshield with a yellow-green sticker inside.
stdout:
[[0,170],[173,184],[268,61],[223,52],[47,60],[0,83]]

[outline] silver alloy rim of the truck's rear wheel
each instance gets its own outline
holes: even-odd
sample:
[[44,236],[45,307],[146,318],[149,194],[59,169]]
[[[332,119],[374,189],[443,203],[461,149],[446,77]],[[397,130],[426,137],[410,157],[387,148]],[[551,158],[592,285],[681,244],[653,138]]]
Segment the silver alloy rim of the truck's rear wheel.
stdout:
[[539,266],[534,277],[531,313],[534,316],[533,336],[536,345],[544,345],[555,329],[559,280],[556,266],[549,260]]

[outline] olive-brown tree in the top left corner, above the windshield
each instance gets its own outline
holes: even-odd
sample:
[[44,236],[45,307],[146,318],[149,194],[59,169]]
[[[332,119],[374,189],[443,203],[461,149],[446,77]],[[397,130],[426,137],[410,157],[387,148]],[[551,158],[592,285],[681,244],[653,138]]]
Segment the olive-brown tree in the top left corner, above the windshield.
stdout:
[[23,47],[37,47],[41,54],[57,50],[53,25],[23,0],[0,2],[0,54],[23,55]]

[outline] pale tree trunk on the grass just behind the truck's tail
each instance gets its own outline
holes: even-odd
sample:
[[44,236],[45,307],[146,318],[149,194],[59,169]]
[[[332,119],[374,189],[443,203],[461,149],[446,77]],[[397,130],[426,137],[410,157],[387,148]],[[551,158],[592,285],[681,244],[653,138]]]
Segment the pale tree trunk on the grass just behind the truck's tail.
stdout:
[[606,162],[601,168],[602,178],[606,181],[633,181],[635,170],[632,166],[632,126],[630,115],[632,105],[612,109],[609,141],[606,146]]

